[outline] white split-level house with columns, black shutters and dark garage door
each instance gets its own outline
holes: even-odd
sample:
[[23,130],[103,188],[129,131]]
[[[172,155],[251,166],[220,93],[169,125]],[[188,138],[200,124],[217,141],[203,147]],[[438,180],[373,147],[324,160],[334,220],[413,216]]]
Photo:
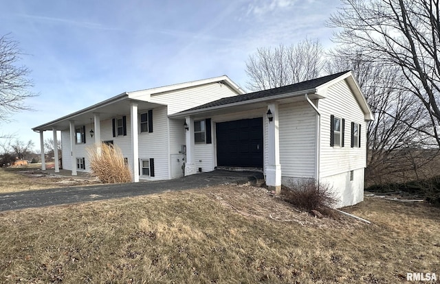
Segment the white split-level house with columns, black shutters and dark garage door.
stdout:
[[348,206],[363,200],[372,119],[346,71],[254,93],[227,76],[127,92],[32,129],[42,153],[43,132],[57,141],[61,131],[63,169],[73,176],[89,170],[86,148],[105,142],[120,147],[133,182],[256,169],[277,191],[292,179],[329,182]]

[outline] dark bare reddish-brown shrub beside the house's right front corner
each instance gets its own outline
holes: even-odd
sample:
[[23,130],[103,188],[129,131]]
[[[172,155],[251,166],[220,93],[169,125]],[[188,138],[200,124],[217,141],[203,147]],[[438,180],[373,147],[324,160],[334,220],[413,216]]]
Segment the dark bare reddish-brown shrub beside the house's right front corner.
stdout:
[[291,182],[281,191],[283,199],[304,211],[318,210],[328,213],[329,208],[338,204],[338,198],[332,188],[314,179]]

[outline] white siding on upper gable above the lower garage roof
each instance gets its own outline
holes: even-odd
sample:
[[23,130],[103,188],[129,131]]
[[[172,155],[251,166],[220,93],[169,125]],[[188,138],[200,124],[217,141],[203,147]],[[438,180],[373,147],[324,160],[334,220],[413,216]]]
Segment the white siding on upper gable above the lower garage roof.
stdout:
[[[210,83],[202,86],[184,88],[167,93],[151,95],[149,102],[168,105],[168,115],[179,113],[188,108],[194,108],[222,97],[237,95],[232,88],[225,84]],[[137,97],[142,99],[142,97]]]

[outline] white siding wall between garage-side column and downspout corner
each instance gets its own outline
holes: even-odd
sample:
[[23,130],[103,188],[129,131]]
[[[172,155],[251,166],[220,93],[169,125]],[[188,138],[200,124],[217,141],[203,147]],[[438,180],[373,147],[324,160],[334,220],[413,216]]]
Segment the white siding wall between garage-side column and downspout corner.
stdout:
[[314,178],[316,112],[307,102],[279,106],[280,164],[283,177]]

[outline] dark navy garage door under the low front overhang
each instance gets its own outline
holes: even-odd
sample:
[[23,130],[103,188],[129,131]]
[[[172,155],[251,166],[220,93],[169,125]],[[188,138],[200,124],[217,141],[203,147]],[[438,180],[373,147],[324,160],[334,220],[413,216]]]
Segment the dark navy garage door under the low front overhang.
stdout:
[[263,118],[216,124],[217,165],[263,167]]

